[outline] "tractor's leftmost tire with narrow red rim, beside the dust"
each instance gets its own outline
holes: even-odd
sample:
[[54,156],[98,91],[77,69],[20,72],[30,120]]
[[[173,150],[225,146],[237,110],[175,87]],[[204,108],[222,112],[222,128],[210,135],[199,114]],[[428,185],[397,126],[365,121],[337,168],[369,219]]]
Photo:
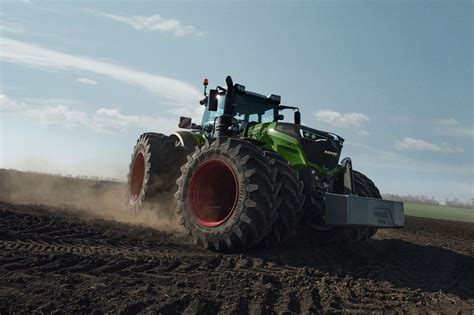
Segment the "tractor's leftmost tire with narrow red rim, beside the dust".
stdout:
[[173,137],[144,133],[133,149],[128,173],[127,208],[136,213],[158,198],[176,191],[180,167],[186,153]]

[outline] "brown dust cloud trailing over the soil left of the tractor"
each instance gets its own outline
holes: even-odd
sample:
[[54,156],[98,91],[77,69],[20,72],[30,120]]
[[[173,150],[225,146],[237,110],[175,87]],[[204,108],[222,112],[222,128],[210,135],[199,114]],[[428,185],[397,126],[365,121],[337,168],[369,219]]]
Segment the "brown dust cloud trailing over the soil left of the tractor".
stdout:
[[126,184],[0,169],[0,200],[16,204],[52,206],[86,219],[139,224],[173,234],[183,233],[172,196],[140,209],[127,211]]

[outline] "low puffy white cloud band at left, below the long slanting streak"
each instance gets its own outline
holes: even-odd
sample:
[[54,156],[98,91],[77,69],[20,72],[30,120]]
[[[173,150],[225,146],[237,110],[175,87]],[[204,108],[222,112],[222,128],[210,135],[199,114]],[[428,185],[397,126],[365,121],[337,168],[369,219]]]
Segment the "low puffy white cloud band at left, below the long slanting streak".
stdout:
[[163,117],[125,115],[115,108],[99,108],[93,113],[76,110],[68,105],[48,102],[21,102],[0,93],[0,112],[13,113],[45,125],[59,125],[67,129],[84,128],[98,133],[114,134],[130,128],[171,133],[177,123]]

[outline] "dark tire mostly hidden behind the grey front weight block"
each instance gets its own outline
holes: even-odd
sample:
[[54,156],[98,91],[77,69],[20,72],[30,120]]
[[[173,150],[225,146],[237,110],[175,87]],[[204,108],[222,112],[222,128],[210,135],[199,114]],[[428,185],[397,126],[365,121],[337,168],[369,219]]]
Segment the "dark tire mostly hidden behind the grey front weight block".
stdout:
[[[375,184],[364,174],[353,171],[354,192],[362,197],[382,199]],[[342,183],[335,183],[335,191],[342,191]],[[319,218],[315,219],[312,213],[322,213],[321,209],[305,209],[305,219],[301,224],[300,237],[309,244],[351,244],[370,239],[377,232],[375,227],[351,227],[351,226],[322,226]]]

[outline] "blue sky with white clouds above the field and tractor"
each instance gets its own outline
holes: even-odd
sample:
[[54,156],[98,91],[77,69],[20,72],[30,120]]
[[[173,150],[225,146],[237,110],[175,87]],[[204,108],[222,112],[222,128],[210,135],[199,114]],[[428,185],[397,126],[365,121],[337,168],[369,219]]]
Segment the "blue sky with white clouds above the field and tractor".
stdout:
[[[0,167],[125,179],[202,80],[299,106],[383,193],[474,198],[471,1],[0,2]],[[291,116],[291,115],[288,115]]]

